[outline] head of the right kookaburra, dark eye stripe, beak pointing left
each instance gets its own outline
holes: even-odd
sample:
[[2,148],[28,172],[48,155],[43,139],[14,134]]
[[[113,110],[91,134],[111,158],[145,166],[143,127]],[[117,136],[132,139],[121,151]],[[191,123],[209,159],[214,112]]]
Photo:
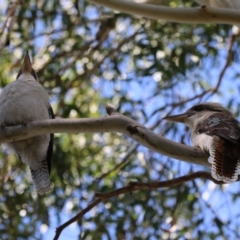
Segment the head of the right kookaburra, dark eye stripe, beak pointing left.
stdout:
[[182,114],[166,116],[163,119],[173,122],[184,123],[188,127],[194,128],[199,122],[205,120],[206,118],[217,112],[233,116],[228,109],[224,108],[219,103],[206,102],[194,105]]

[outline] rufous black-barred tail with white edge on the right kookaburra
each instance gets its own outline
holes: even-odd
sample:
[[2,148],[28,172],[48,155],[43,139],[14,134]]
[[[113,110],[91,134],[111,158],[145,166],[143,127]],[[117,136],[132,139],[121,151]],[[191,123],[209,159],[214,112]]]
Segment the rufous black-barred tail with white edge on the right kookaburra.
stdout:
[[[212,177],[225,183],[235,182],[239,174],[239,147],[215,136],[215,146],[208,161],[212,164]],[[221,146],[216,149],[216,145]]]

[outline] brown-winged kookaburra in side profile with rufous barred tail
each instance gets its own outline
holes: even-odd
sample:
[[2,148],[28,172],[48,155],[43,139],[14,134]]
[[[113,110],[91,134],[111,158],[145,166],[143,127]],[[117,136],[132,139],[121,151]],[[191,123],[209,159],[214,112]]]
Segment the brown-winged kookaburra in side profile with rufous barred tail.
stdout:
[[185,123],[191,129],[193,145],[209,153],[212,177],[226,183],[240,174],[240,124],[218,103],[202,103],[185,113],[164,119]]

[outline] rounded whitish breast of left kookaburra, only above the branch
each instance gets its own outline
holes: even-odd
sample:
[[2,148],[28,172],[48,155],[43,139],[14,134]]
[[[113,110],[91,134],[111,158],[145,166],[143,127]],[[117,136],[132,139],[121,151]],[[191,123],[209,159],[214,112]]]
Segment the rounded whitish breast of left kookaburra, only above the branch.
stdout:
[[0,95],[0,124],[17,125],[48,119],[48,96],[35,80],[15,81]]

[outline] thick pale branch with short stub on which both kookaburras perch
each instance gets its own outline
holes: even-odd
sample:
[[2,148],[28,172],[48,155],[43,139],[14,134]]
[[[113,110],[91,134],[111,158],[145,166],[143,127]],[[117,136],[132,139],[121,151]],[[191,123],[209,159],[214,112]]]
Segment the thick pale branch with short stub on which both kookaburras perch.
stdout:
[[125,117],[107,106],[109,117],[81,119],[51,119],[30,122],[26,125],[4,127],[0,130],[0,144],[31,138],[48,133],[122,133],[143,146],[185,162],[210,166],[207,155],[198,148],[193,148],[166,139],[131,118]]

